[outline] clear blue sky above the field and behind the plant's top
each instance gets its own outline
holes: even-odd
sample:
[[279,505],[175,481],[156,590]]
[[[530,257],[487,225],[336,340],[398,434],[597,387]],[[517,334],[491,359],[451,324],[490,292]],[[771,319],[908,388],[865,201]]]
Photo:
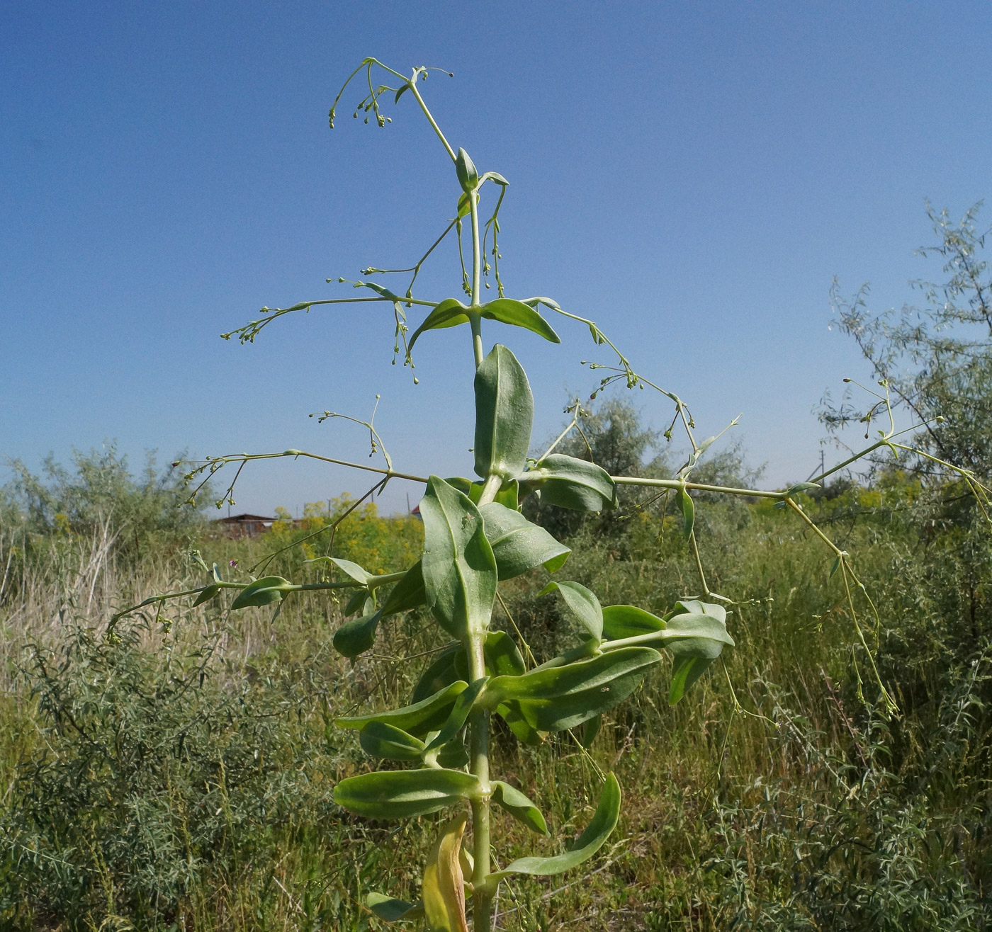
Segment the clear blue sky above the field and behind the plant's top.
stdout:
[[[389,305],[218,338],[262,304],[352,293],[326,278],[408,264],[452,215],[409,97],[380,130],[350,119],[356,87],[327,128],[374,55],[454,72],[424,90],[452,143],[511,182],[511,295],[595,318],[704,435],[743,411],[767,482],[805,478],[811,406],[864,373],[827,327],[831,278],[901,304],[937,274],[912,256],[924,198],[960,214],[992,190],[990,49],[987,2],[5,4],[0,454],[116,438],[136,465],[146,448],[364,458],[358,428],[307,414],[366,415],[378,392],[398,468],[470,472],[466,328],[418,346],[416,388],[390,365]],[[422,296],[458,293],[453,259]],[[527,368],[539,438],[593,386],[578,361],[608,360],[558,329],[558,347],[485,332]],[[665,424],[661,400],[637,401]],[[363,489],[279,461],[245,474],[235,510]]]

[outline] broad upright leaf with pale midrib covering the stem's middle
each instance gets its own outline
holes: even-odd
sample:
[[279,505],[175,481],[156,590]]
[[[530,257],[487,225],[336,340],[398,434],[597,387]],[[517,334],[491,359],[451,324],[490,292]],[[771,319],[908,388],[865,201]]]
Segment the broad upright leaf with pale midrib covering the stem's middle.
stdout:
[[482,516],[468,497],[432,476],[421,500],[421,569],[437,623],[459,640],[489,625],[496,598],[496,560]]

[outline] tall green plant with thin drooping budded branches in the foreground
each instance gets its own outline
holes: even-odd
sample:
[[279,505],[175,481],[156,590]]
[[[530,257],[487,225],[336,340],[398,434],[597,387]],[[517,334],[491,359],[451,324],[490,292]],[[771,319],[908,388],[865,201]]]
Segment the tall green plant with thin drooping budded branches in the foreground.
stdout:
[[[385,71],[396,86],[374,85],[372,77],[377,69]],[[357,732],[362,748],[372,757],[412,766],[391,765],[389,769],[343,779],[335,787],[334,798],[351,812],[371,819],[415,818],[449,810],[450,818],[441,825],[427,855],[421,901],[408,903],[373,893],[367,898],[367,906],[389,921],[425,916],[434,929],[465,930],[466,903],[470,898],[474,928],[476,932],[485,932],[491,928],[493,899],[501,881],[516,875],[560,874],[587,861],[616,825],[621,799],[616,778],[603,774],[599,803],[591,821],[561,854],[520,858],[493,870],[492,851],[497,847],[490,821],[493,806],[535,834],[546,835],[549,831],[538,807],[511,783],[491,772],[493,716],[503,719],[524,744],[539,745],[550,733],[579,725],[585,726],[583,741],[587,743],[594,737],[599,717],[623,702],[645,676],[660,666],[662,651],[672,655],[670,699],[675,703],[720,656],[724,646],[734,643],[726,628],[725,605],[731,600],[709,589],[695,545],[694,495],[715,492],[775,500],[782,508],[800,516],[828,545],[834,556],[834,570],[841,571],[839,575],[855,619],[855,603],[862,599],[863,587],[847,554],[806,516],[803,493],[815,483],[774,492],[692,481],[693,470],[716,438],[697,442],[695,424],[682,399],[638,375],[594,321],[563,310],[548,297],[507,296],[499,273],[497,244],[499,209],[507,180],[495,172],[480,173],[464,149],[455,150],[448,143],[420,91],[419,85],[428,77],[428,68],[416,67],[408,77],[374,58],[367,58],[352,72],[345,88],[361,72],[368,77],[369,92],[356,108],[356,117],[364,115],[366,123],[374,120],[385,126],[389,118],[381,110],[383,96],[389,95],[399,103],[409,95],[431,124],[453,168],[452,180],[457,185],[453,190],[456,200],[452,196],[452,204],[456,205],[454,218],[410,269],[365,270],[366,279],[389,271],[409,274],[410,282],[404,293],[391,291],[378,282],[359,281],[351,284],[372,293],[304,301],[286,308],[266,307],[261,318],[224,336],[237,336],[242,342],[250,342],[273,320],[320,304],[385,302],[394,312],[395,351],[399,354],[402,346],[404,361],[412,366],[412,350],[424,334],[467,324],[475,364],[476,478],[445,479],[400,472],[394,469],[373,420],[359,421],[369,431],[373,450],[381,450],[385,458],[384,468],[347,464],[378,474],[368,494],[381,491],[394,479],[423,483],[426,487],[421,504],[425,544],[418,562],[404,572],[373,574],[355,563],[327,555],[318,559],[336,578],[307,584],[263,575],[265,563],[253,568],[259,575],[249,582],[231,582],[222,579],[214,565],[207,570],[211,575],[205,586],[185,593],[153,596],[144,604],[161,606],[169,598],[184,595],[195,596],[196,602],[202,603],[217,598],[222,590],[229,588],[239,590],[232,609],[272,606],[278,610],[283,600],[300,590],[348,589],[353,592],[345,608],[349,620],[335,633],[334,645],[344,656],[352,658],[371,649],[383,620],[420,607],[429,609],[436,624],[439,647],[434,660],[423,671],[409,704],[337,721],[340,727]],[[334,115],[332,108],[331,126]],[[482,197],[490,190],[496,195],[495,204],[489,219],[483,221]],[[462,295],[436,301],[416,296],[414,286],[423,264],[452,231],[462,257]],[[467,266],[462,248],[466,240],[470,254]],[[483,285],[489,285],[484,280],[490,275],[495,280],[497,296],[484,300]],[[421,306],[429,311],[408,340],[407,311]],[[541,456],[529,456],[534,402],[527,375],[506,346],[496,344],[486,351],[483,321],[528,330],[558,343],[558,334],[542,315],[542,307],[582,323],[597,346],[606,346],[615,354],[611,364],[591,364],[592,369],[603,371],[594,395],[614,382],[621,382],[630,388],[656,389],[673,402],[673,424],[681,422],[691,449],[675,478],[611,476],[595,463],[556,452],[567,431]],[[573,413],[572,427],[579,416],[577,405]],[[323,416],[337,415],[324,412]],[[881,446],[895,449],[896,436],[893,428],[869,449]],[[210,458],[194,466],[189,478],[201,473],[208,478],[230,463],[237,463],[240,473],[246,462],[273,456],[310,456],[342,462],[299,449],[275,454],[238,454]],[[823,476],[844,465],[824,472]],[[823,476],[817,477],[817,481]],[[695,556],[698,593],[686,596],[661,617],[629,605],[603,607],[584,586],[559,578],[570,552],[568,547],[546,528],[529,522],[520,511],[521,501],[534,496],[540,498],[542,506],[599,512],[616,504],[617,488],[624,484],[654,488],[658,494],[676,497],[682,513],[682,532]],[[225,499],[230,500],[233,488],[232,482],[218,506]],[[344,517],[346,514],[339,520]],[[207,569],[205,563],[203,568]],[[502,581],[524,573],[544,572],[555,574],[555,578],[542,594],[556,593],[582,634],[555,658],[529,665],[525,652],[532,659],[533,654],[526,644],[493,628],[493,610],[500,599]],[[870,605],[870,600],[867,604]],[[860,627],[858,636],[871,662],[869,644]],[[879,687],[884,700],[891,705],[880,683]],[[471,851],[462,844],[469,817]]]

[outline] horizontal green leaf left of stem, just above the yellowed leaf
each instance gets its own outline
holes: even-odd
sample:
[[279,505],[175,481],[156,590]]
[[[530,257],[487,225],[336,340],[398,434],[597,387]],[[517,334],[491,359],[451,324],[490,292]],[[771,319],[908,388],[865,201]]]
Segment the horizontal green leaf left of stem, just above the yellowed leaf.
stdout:
[[341,780],[334,787],[334,802],[367,819],[408,819],[478,793],[478,779],[461,770],[377,770]]

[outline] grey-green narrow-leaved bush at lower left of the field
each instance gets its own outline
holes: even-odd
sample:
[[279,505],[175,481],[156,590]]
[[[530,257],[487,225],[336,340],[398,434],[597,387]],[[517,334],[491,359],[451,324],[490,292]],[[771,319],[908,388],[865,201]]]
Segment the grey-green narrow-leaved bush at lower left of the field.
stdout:
[[34,648],[21,672],[39,740],[3,820],[8,910],[79,929],[108,913],[164,927],[204,874],[266,857],[271,826],[329,807],[298,778],[309,684],[226,666],[222,640],[204,632],[182,647],[139,623],[115,640],[75,629],[58,652]]

